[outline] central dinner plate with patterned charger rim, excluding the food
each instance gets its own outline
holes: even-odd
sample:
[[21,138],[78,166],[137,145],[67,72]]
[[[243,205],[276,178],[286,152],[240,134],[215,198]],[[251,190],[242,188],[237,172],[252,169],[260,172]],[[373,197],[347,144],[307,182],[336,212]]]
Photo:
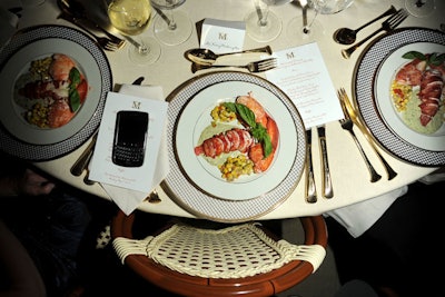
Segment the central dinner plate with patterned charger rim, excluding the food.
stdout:
[[[250,91],[277,122],[278,149],[266,172],[226,181],[194,148],[212,107]],[[170,171],[161,186],[179,205],[200,217],[238,221],[270,211],[294,191],[304,170],[305,128],[278,87],[250,73],[221,71],[190,79],[167,100]]]

